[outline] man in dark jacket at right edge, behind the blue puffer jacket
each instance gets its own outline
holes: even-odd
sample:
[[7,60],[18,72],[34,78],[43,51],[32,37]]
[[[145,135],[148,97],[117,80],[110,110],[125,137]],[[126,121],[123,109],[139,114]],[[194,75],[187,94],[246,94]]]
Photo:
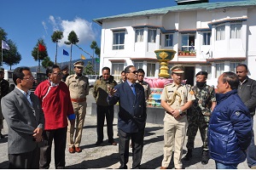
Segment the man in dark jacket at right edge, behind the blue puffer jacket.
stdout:
[[[237,65],[236,66],[236,75],[239,78],[238,85],[238,95],[241,98],[241,101],[244,105],[247,106],[250,111],[251,121],[253,124],[253,116],[255,115],[256,107],[256,81],[247,77],[248,69],[247,65]],[[253,126],[253,125],[252,125]],[[249,167],[256,168],[256,148],[254,144],[254,133],[252,129],[252,140],[251,144],[247,149],[247,164]]]

